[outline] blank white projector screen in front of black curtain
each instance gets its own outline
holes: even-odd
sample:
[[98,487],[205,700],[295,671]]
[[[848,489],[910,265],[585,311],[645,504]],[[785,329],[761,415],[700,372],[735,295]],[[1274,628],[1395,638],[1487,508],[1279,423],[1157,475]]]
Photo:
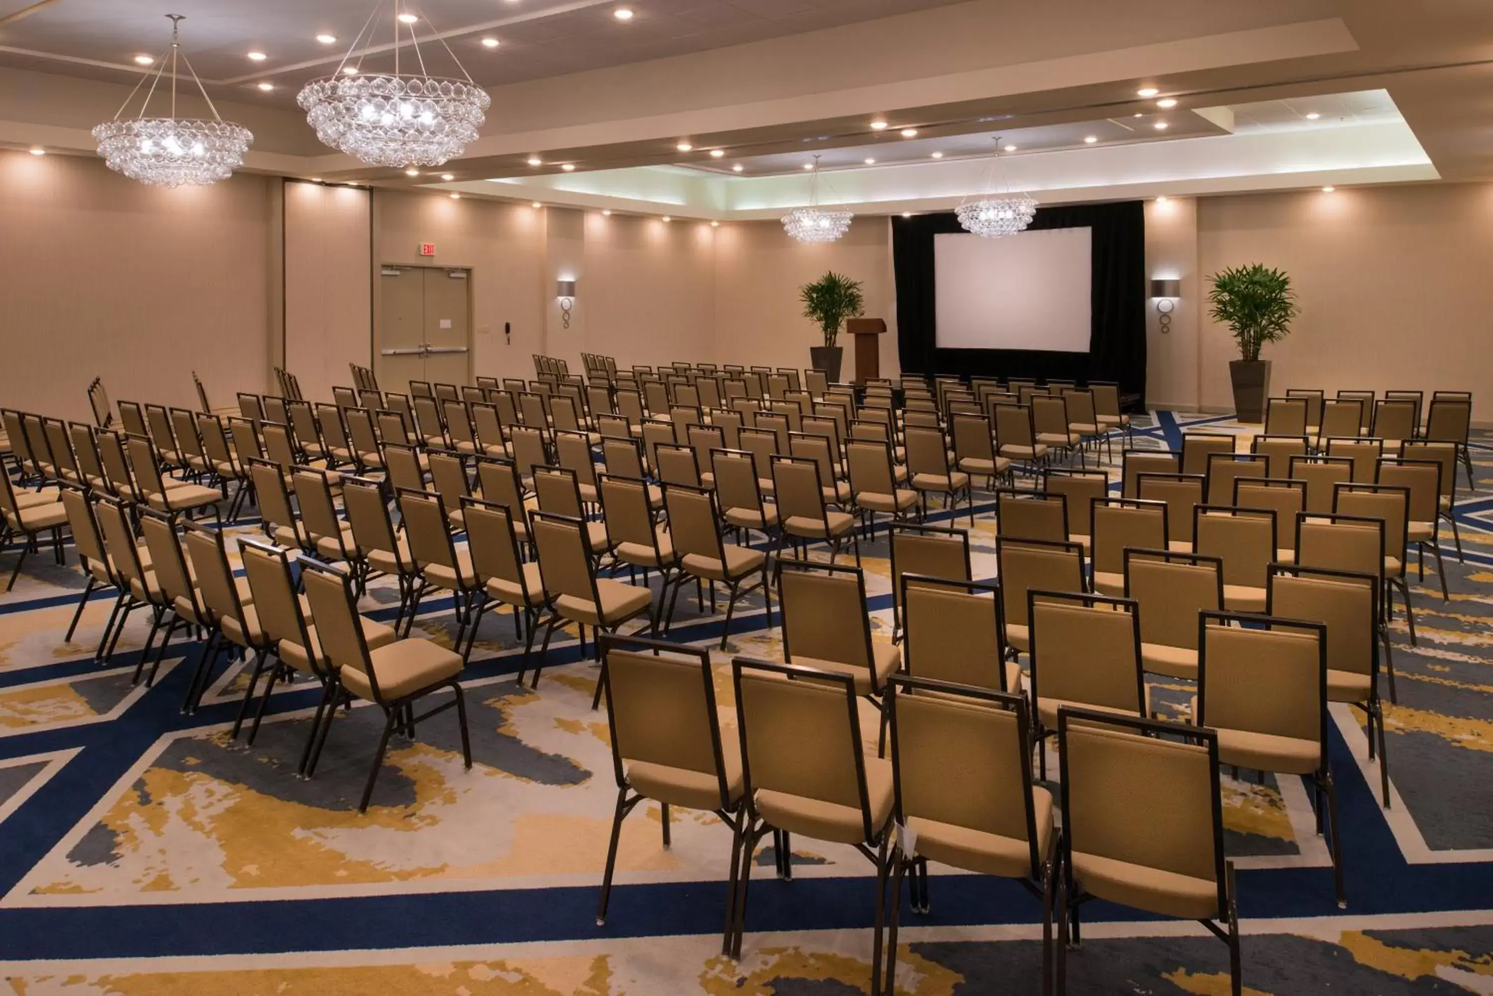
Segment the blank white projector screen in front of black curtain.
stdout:
[[1093,231],[933,236],[939,349],[1088,352]]

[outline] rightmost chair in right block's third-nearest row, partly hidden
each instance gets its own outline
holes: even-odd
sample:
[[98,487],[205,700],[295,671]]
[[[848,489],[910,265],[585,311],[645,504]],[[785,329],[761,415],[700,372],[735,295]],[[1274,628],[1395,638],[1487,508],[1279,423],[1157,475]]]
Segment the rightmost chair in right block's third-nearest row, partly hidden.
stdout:
[[1380,760],[1380,799],[1390,806],[1390,771],[1380,699],[1380,647],[1375,639],[1380,590],[1366,573],[1293,567],[1271,569],[1269,614],[1326,627],[1327,702],[1362,709],[1369,723],[1369,760]]

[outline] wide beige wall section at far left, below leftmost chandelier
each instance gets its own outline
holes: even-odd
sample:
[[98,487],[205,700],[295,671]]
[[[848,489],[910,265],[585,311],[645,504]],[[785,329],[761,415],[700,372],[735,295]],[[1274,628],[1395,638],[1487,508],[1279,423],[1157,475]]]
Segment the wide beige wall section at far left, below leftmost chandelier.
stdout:
[[160,190],[99,160],[0,152],[0,405],[91,421],[85,391],[196,408],[261,391],[269,187]]

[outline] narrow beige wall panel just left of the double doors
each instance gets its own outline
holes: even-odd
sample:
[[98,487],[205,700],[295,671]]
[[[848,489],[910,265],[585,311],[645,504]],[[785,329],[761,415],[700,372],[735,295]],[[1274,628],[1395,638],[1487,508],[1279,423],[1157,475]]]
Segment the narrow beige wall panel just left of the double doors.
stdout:
[[306,397],[331,397],[352,384],[349,363],[369,363],[369,215],[366,190],[285,184],[285,369]]

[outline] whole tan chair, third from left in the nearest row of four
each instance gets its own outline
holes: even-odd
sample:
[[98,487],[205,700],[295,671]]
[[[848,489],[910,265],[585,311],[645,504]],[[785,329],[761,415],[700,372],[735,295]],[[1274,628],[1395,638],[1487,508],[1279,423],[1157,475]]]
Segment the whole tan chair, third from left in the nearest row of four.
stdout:
[[1053,794],[1032,784],[1026,700],[897,676],[887,712],[894,820],[908,835],[893,853],[885,992],[896,990],[902,880],[911,875],[912,908],[926,912],[933,860],[1015,880],[1042,903],[1042,992],[1050,993],[1060,833]]

